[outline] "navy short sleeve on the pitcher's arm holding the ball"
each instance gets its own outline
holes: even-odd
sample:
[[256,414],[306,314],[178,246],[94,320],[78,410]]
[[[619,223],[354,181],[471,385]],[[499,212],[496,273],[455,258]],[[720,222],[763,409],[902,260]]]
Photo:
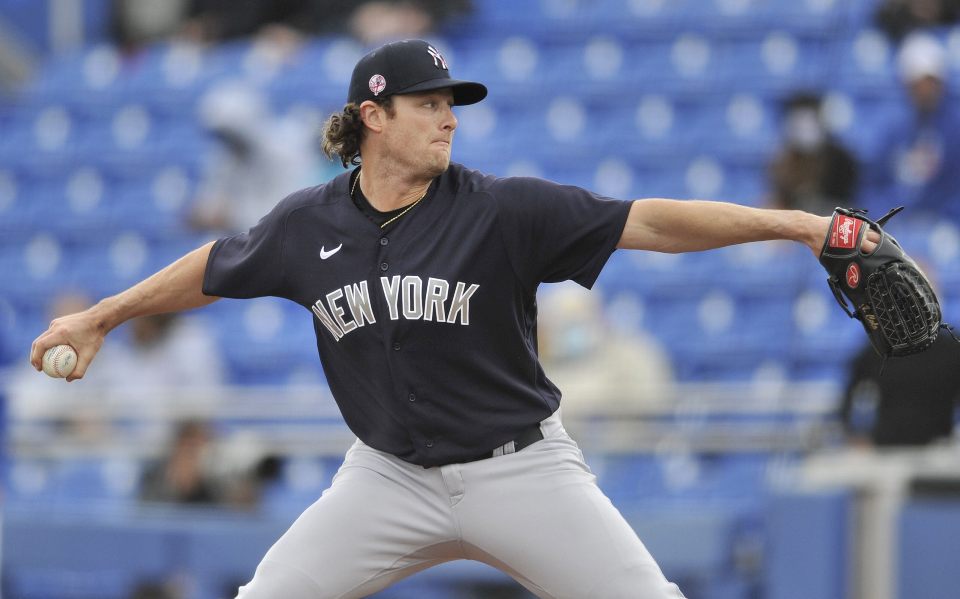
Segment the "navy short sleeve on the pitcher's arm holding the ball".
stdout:
[[249,231],[218,239],[206,260],[204,295],[283,297],[283,238],[288,214],[287,203],[281,202]]

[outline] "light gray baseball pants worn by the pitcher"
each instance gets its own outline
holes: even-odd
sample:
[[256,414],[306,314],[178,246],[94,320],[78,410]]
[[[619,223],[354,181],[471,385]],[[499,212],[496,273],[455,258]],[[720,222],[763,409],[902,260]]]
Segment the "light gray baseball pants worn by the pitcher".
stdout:
[[452,560],[544,599],[682,599],[596,486],[559,411],[516,453],[424,468],[357,441],[238,599],[359,599]]

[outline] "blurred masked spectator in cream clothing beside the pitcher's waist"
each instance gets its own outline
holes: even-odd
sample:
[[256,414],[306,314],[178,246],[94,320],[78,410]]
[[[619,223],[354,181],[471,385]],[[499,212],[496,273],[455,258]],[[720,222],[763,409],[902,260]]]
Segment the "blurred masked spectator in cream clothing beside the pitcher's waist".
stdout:
[[650,337],[608,323],[596,293],[562,284],[538,298],[540,363],[564,418],[637,417],[673,397],[669,359]]

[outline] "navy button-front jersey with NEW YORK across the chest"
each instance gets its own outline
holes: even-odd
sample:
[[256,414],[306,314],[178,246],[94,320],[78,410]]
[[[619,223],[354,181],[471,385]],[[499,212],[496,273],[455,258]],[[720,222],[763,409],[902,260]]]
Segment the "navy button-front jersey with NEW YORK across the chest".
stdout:
[[350,430],[402,460],[460,462],[560,405],[537,359],[537,287],[590,287],[630,202],[451,163],[388,228],[352,202],[350,173],[303,189],[217,241],[204,294],[276,296],[313,313]]

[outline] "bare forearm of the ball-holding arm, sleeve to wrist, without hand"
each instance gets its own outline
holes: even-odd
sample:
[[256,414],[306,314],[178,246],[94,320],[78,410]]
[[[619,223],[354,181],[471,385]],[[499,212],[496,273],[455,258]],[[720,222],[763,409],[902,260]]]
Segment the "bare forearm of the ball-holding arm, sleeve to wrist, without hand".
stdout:
[[194,250],[127,291],[90,308],[104,333],[138,316],[199,308],[219,298],[204,296],[206,260],[213,242]]

